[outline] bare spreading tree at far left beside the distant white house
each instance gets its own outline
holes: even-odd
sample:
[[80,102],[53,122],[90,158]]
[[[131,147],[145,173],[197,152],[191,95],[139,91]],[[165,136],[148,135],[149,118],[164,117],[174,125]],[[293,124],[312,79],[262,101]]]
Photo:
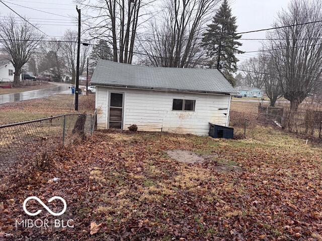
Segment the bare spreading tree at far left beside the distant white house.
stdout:
[[39,30],[26,21],[18,22],[11,15],[0,20],[0,43],[15,67],[14,86],[20,85],[22,67],[36,53],[41,39]]

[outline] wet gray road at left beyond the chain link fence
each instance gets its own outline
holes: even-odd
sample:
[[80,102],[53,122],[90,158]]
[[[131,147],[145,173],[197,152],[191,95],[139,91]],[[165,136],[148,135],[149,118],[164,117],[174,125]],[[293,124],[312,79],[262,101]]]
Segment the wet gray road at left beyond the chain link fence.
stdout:
[[[70,91],[70,90],[69,90]],[[47,89],[38,89],[12,94],[0,94],[0,104],[48,97],[49,95],[68,92],[68,85],[57,85]]]

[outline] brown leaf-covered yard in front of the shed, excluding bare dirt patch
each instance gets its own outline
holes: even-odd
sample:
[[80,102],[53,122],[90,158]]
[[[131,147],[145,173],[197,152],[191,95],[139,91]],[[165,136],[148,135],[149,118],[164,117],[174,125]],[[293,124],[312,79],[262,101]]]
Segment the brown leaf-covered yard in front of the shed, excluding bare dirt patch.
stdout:
[[[167,150],[189,150],[205,162],[177,162]],[[259,126],[243,140],[97,131],[1,197],[0,235],[17,240],[322,240],[321,154],[320,147]],[[53,177],[60,179],[52,182]],[[55,195],[67,202],[60,218],[73,219],[74,228],[15,228],[15,219],[30,218],[22,209],[25,198],[45,201]],[[41,208],[34,204],[31,210]],[[39,215],[50,218],[46,211]]]

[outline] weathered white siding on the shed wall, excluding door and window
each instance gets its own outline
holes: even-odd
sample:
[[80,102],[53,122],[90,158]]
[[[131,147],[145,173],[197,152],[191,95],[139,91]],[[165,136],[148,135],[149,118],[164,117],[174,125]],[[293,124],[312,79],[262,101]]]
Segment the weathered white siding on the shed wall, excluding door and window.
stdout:
[[[123,130],[136,124],[139,131],[208,135],[209,122],[226,126],[230,96],[97,87],[98,127],[108,128],[108,93],[124,93]],[[173,99],[195,99],[195,111],[173,111]],[[225,115],[225,113],[227,115]]]

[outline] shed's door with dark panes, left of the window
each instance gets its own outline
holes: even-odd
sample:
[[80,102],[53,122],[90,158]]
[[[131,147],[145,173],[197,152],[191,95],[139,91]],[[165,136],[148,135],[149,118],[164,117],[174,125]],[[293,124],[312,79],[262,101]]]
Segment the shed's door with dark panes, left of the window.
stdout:
[[110,94],[109,128],[122,129],[123,93]]

